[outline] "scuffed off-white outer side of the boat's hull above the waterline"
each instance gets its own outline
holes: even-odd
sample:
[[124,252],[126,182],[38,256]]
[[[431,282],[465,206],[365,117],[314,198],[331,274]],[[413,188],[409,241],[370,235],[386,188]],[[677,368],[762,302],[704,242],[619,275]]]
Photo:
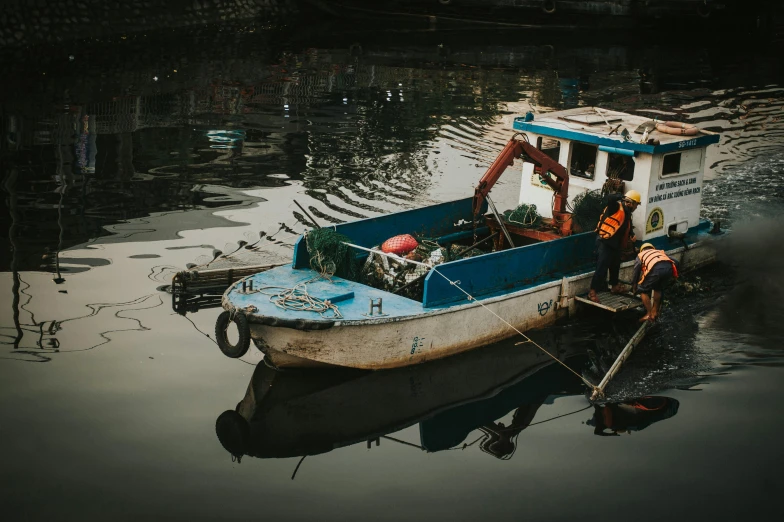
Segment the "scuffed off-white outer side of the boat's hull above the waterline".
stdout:
[[[716,260],[712,241],[695,243],[688,250],[669,250],[668,254],[679,261],[682,272]],[[633,265],[633,261],[621,265],[622,280],[629,280]],[[578,312],[574,297],[588,292],[592,276],[592,272],[579,274],[416,316],[336,322],[326,330],[251,324],[251,337],[279,367],[397,368],[519,335],[515,329],[525,332],[573,316]]]

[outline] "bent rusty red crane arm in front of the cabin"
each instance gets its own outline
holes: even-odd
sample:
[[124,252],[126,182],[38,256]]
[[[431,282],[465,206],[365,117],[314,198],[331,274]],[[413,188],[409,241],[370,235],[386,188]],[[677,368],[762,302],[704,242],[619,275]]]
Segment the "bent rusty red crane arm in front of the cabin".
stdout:
[[[474,189],[473,210],[474,216],[479,214],[490,189],[493,188],[498,178],[504,173],[507,167],[514,163],[516,158],[527,158],[542,168],[540,174],[542,180],[555,192],[553,211],[557,213],[566,212],[566,200],[569,196],[569,173],[566,168],[552,159],[550,156],[537,149],[524,140],[518,140],[517,134],[512,136],[509,143],[503,148],[498,157],[487,169],[479,184]],[[554,177],[551,177],[552,174]]]

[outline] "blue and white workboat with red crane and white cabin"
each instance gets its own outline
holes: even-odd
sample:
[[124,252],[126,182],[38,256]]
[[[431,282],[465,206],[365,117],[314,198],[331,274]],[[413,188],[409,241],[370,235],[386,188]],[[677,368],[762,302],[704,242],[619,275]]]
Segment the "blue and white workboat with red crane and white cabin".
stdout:
[[[571,204],[608,183],[641,194],[634,213],[638,244],[667,251],[681,271],[715,261],[711,243],[718,227],[700,218],[706,149],[719,141],[715,133],[594,107],[529,113],[516,118],[513,128],[517,134],[471,197],[335,227],[364,249],[404,233],[439,238],[441,244],[472,244],[477,236],[499,232],[497,238],[504,240],[496,240],[496,251],[437,265],[438,273],[431,270],[424,279],[422,299],[414,300],[340,277],[320,278],[300,237],[291,265],[248,276],[225,292],[222,304],[229,313],[216,325],[224,353],[244,355],[252,339],[278,367],[395,368],[569,317],[589,290],[596,239],[594,231],[572,226]],[[537,205],[544,226],[532,230],[507,223],[500,234],[492,203],[493,212],[487,213],[486,196],[514,159],[522,160],[519,202]],[[367,250],[354,251],[368,256]],[[622,264],[622,280],[629,279],[632,265]],[[310,281],[308,294],[329,300],[339,317],[284,309],[269,295],[250,290],[292,288],[305,281]],[[225,335],[230,319],[240,329],[236,344]]]

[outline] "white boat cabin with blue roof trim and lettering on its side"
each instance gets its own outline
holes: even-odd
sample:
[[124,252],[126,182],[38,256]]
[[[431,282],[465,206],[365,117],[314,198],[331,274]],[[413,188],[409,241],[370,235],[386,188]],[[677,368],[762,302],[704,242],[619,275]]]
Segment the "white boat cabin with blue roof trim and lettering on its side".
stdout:
[[[699,222],[705,149],[715,135],[674,136],[638,129],[644,116],[580,107],[516,118],[514,129],[569,171],[569,202],[605,184],[619,192],[637,190],[642,204],[634,214],[638,239],[685,232]],[[640,132],[637,132],[637,131]],[[523,163],[520,203],[535,204],[552,216],[553,191],[532,163]]]

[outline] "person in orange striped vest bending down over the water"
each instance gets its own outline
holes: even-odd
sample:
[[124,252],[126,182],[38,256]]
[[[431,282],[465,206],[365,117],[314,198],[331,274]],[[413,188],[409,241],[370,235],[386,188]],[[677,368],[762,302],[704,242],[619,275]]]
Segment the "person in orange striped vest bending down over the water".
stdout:
[[632,272],[632,293],[640,292],[647,312],[640,322],[655,321],[659,317],[664,287],[677,278],[678,266],[664,250],[656,250],[650,243],[640,247]]

